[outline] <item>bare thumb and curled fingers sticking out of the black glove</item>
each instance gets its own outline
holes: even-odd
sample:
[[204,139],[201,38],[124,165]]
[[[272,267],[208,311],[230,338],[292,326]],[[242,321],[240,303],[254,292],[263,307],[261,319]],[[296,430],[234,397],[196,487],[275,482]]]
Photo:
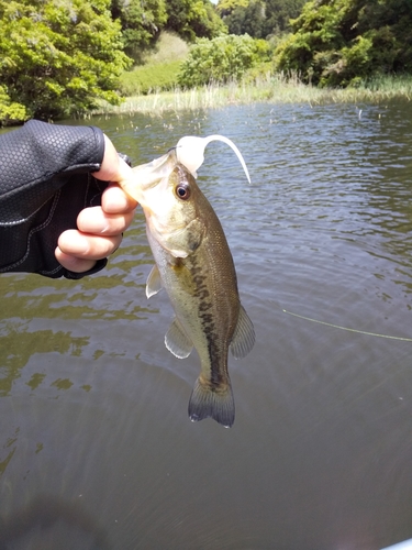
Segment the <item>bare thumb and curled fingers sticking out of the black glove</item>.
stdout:
[[81,210],[77,228],[64,231],[55,250],[56,260],[68,271],[83,273],[97,260],[112,254],[122,241],[122,233],[132,223],[137,202],[129,197],[116,182],[132,177],[132,168],[119,157],[114,145],[104,135],[104,156],[99,172],[93,176],[113,182],[102,194],[101,206]]

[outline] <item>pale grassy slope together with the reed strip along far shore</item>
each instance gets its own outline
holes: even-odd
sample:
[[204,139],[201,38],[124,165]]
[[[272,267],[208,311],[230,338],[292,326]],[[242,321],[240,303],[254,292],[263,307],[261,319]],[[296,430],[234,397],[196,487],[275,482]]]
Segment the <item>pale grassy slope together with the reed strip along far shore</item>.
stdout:
[[119,107],[102,103],[93,113],[162,116],[168,111],[219,109],[254,102],[379,103],[391,98],[412,99],[412,76],[376,78],[357,88],[315,88],[304,85],[298,75],[271,74],[270,64],[255,67],[242,82],[182,90],[178,88],[176,77],[188,52],[189,46],[178,35],[163,33],[156,50],[143,56],[143,65],[122,75],[121,92],[125,100]]

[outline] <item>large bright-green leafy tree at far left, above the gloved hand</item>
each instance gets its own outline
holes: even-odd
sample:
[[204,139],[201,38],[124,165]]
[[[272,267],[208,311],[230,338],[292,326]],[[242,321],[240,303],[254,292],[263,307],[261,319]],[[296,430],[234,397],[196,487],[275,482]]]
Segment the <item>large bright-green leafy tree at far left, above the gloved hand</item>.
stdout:
[[0,0],[3,122],[120,102],[114,90],[130,59],[109,8],[109,0]]

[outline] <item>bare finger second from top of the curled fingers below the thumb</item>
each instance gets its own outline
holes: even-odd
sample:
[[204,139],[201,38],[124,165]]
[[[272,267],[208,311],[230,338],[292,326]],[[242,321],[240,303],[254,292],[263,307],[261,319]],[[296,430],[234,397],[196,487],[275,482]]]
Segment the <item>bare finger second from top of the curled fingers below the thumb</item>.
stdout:
[[133,221],[134,209],[126,213],[111,215],[101,207],[90,207],[81,210],[77,217],[77,228],[82,233],[115,237],[125,231]]

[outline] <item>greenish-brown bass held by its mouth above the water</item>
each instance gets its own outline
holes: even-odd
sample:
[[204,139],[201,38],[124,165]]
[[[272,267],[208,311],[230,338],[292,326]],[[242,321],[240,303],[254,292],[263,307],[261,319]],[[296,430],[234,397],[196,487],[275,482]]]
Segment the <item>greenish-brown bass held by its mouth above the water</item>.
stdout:
[[[198,152],[207,143],[198,143]],[[194,156],[188,155],[185,146],[133,168],[138,182],[134,198],[143,208],[155,260],[146,296],[166,289],[175,311],[165,336],[166,348],[179,359],[188,358],[194,348],[200,358],[189,418],[199,421],[211,417],[230,428],[235,403],[227,371],[229,350],[235,359],[246,356],[254,346],[255,330],[241,304],[222,224],[196,182],[203,157],[193,163]]]

